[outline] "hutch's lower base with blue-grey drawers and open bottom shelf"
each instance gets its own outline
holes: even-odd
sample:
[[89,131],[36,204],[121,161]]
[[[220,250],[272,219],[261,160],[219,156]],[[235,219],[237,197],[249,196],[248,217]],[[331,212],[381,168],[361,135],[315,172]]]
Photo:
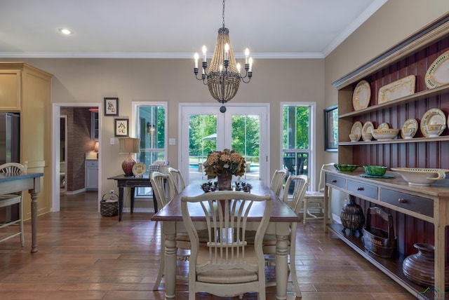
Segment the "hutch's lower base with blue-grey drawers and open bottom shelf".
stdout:
[[[360,169],[343,173],[335,170],[325,170],[325,199],[324,215],[327,214],[330,204],[328,189],[337,189],[349,193],[358,198],[387,207],[396,212],[402,212],[417,219],[422,219],[434,224],[435,240],[435,286],[437,291],[444,292],[445,287],[445,226],[449,225],[449,185],[448,180],[441,180],[431,186],[410,186],[396,172],[387,172],[396,175],[393,179],[373,179],[360,177]],[[342,224],[328,224],[324,219],[324,229],[333,231],[339,238],[352,247],[356,252],[365,257],[399,285],[407,289],[418,299],[429,299],[422,292],[426,287],[415,285],[408,280],[402,272],[403,254],[398,254],[393,259],[384,259],[370,254],[361,243],[358,233],[348,236],[342,232]],[[429,287],[432,288],[432,287]]]

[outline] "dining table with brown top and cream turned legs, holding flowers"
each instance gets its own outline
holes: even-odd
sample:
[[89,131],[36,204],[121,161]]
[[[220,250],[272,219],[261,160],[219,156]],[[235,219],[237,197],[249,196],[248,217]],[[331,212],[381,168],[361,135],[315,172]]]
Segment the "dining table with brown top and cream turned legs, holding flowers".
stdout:
[[[287,203],[284,203],[281,198],[260,180],[247,181],[253,186],[250,193],[256,195],[271,195],[273,199],[272,214],[270,215],[269,225],[266,233],[276,235],[276,254],[275,254],[275,272],[276,272],[276,299],[287,299],[287,285],[288,285],[288,240],[290,238],[290,224],[296,226],[300,222],[300,217],[291,210]],[[176,285],[176,264],[177,264],[177,247],[176,234],[185,233],[185,226],[182,221],[181,213],[181,198],[182,196],[198,196],[204,193],[201,189],[201,182],[192,182],[177,196],[173,198],[165,207],[162,207],[159,212],[153,215],[152,221],[162,221],[163,230],[162,238],[165,238],[165,270],[164,278],[166,281],[165,299],[176,299],[175,285]],[[213,193],[210,192],[210,193]],[[242,193],[245,193],[242,191]],[[196,214],[196,215],[195,215]],[[260,222],[263,216],[263,210],[256,207],[251,208],[250,221]],[[201,210],[191,212],[194,221],[203,222],[205,217]],[[202,218],[201,218],[202,217]],[[293,262],[294,263],[294,262]]]

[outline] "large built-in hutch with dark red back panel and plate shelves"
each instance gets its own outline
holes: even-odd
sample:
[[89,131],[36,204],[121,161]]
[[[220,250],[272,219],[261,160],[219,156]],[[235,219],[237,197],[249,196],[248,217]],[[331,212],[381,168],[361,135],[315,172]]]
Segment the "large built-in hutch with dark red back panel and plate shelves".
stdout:
[[[402,128],[409,118],[418,123],[432,108],[449,114],[449,84],[427,88],[425,75],[437,57],[449,50],[449,15],[398,43],[380,57],[336,81],[338,89],[338,162],[358,165],[385,165],[390,168],[444,168],[449,169],[449,130],[445,128],[438,137],[424,137],[419,125],[415,137],[403,139],[401,135],[389,140],[351,142],[349,134],[356,121],[370,121],[374,128],[388,123],[389,128]],[[415,93],[396,100],[379,103],[378,92],[382,86],[415,75]],[[368,107],[354,110],[354,88],[361,80],[370,84]],[[447,124],[446,124],[447,126]],[[361,170],[363,171],[363,170]],[[382,207],[392,215],[394,231],[398,238],[398,253],[394,258],[383,259],[366,251],[358,234],[349,236],[342,232],[341,224],[328,224],[337,236],[387,273],[410,293],[421,299],[434,296],[422,294],[426,287],[415,285],[402,273],[402,261],[417,250],[415,243],[435,245],[435,288],[444,290],[444,262],[448,259],[449,179],[431,186],[409,186],[400,175],[395,179],[368,179],[353,173],[326,172],[326,188],[338,189],[356,196],[363,212],[368,207]],[[405,201],[405,202],[404,202]],[[446,293],[447,294],[447,293]]]

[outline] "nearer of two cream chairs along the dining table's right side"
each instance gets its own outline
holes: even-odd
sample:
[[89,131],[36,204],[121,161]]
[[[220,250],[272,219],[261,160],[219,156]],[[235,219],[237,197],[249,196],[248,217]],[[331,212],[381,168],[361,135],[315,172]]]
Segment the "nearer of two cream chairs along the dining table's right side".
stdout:
[[[290,197],[288,193],[284,193],[283,201],[291,207],[295,214],[300,214],[300,210],[302,208],[302,200],[304,199],[304,195],[307,191],[307,186],[309,186],[309,177],[307,175],[290,175],[287,178],[285,191],[288,191],[290,189],[290,186],[293,186],[293,195],[291,196],[291,200],[289,199]],[[297,297],[301,297],[300,286],[297,282],[295,265],[296,231],[297,223],[290,223],[290,236],[288,238],[288,266],[290,268],[290,275],[292,278],[292,284],[293,289],[295,290],[295,294]],[[262,243],[264,254],[276,254],[276,235],[264,235]],[[267,264],[274,265],[274,259],[272,257],[267,257]],[[276,285],[276,282],[267,282],[267,286],[273,285]]]

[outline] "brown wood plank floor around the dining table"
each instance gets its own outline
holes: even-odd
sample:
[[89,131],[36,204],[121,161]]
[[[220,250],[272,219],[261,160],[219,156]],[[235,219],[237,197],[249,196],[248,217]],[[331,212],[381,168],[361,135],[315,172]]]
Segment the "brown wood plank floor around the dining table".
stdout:
[[[96,192],[62,196],[60,212],[39,217],[39,252],[29,252],[30,221],[25,247],[18,237],[0,243],[0,299],[163,299],[163,280],[160,290],[152,291],[161,236],[160,224],[150,217],[125,212],[119,222],[97,212]],[[0,229],[0,236],[8,230]],[[321,221],[298,225],[295,261],[303,300],[416,299],[341,240],[324,234]],[[187,262],[178,264],[179,272],[187,273]],[[267,268],[267,276],[274,280],[274,271]],[[178,282],[176,296],[188,299],[187,282]],[[197,294],[196,299],[222,298]],[[267,288],[267,299],[275,299],[274,287]]]

